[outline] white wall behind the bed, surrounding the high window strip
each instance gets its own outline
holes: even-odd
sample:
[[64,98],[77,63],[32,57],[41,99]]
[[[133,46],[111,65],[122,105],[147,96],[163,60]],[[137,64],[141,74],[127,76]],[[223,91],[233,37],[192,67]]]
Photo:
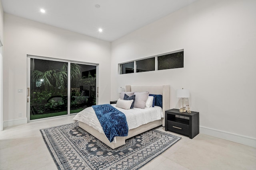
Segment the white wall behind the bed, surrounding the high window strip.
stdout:
[[[255,7],[255,0],[198,0],[112,42],[111,100],[126,84],[170,84],[170,108],[179,108],[175,90],[188,88],[200,133],[256,147]],[[118,63],[179,49],[184,68],[118,74]]]

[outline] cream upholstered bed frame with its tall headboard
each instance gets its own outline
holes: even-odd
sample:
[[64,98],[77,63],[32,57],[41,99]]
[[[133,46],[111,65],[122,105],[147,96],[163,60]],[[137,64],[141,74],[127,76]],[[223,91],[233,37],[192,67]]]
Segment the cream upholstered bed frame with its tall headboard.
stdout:
[[[115,149],[117,147],[120,147],[125,144],[125,140],[133,137],[135,135],[138,135],[140,133],[143,133],[145,131],[148,131],[150,129],[153,129],[154,127],[158,127],[162,125],[165,126],[165,111],[169,109],[170,107],[170,86],[169,85],[126,85],[125,86],[125,92],[146,92],[148,91],[149,94],[160,94],[162,95],[162,112],[163,117],[156,121],[151,121],[147,124],[141,125],[139,127],[136,127],[134,129],[129,129],[128,136],[125,137],[115,137],[115,140],[113,142],[110,142],[109,139],[106,137],[104,133],[101,133],[100,131],[94,129],[94,127],[83,123],[82,121],[79,121],[78,125],[100,141],[102,141],[104,144],[109,146],[112,149]],[[132,110],[132,109],[130,109]],[[79,114],[79,113],[78,113]],[[74,120],[76,120],[74,118]]]

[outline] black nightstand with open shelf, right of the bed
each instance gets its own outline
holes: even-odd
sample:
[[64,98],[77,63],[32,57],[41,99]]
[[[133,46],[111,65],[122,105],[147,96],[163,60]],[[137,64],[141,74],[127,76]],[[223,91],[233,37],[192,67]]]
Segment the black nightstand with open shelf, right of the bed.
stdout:
[[[183,116],[184,118],[181,118]],[[165,111],[165,131],[171,131],[193,139],[199,134],[199,112],[180,113],[179,109]]]

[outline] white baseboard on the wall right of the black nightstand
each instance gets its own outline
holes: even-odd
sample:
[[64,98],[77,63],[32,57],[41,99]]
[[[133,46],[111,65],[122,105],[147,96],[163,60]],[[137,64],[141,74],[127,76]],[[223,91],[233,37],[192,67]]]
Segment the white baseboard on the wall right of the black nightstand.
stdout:
[[200,133],[256,148],[256,139],[200,126]]

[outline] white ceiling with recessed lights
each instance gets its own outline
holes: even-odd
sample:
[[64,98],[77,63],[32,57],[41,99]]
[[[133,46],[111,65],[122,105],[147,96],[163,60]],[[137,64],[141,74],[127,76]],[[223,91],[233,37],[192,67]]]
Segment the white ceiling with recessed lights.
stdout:
[[6,13],[111,42],[196,0],[1,1]]

